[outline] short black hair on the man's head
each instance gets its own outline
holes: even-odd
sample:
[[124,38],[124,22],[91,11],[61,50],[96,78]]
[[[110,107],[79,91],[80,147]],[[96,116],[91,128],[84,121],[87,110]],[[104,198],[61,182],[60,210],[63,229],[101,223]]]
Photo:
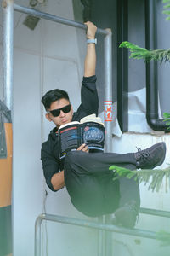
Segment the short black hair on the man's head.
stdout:
[[68,93],[65,90],[49,90],[44,96],[42,96],[42,104],[46,110],[48,110],[51,104],[60,99],[65,99],[70,102]]

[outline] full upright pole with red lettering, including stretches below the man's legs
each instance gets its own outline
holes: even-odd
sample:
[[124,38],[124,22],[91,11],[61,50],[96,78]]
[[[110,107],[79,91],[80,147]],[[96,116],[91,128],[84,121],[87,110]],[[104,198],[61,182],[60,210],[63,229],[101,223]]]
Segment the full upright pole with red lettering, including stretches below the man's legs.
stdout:
[[[112,151],[112,33],[107,29],[105,36],[105,152]],[[111,215],[105,216],[105,224],[111,224]],[[106,256],[112,255],[112,233],[105,231],[105,253]]]

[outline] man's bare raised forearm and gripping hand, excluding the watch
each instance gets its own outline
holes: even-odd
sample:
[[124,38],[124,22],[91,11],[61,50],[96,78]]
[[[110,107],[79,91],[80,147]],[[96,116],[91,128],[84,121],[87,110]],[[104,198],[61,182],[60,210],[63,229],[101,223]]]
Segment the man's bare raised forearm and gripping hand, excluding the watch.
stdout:
[[[84,24],[88,26],[87,39],[94,39],[95,33],[97,31],[97,27],[94,25],[94,23],[90,21]],[[84,77],[91,77],[95,75],[95,68],[96,68],[95,44],[88,43],[87,54],[84,61]]]

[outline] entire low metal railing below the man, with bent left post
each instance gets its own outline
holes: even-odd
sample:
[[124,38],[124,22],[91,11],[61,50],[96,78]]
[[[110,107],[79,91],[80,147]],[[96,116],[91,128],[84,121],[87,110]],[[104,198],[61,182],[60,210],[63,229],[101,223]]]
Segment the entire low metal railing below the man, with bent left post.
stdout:
[[[160,211],[160,210],[153,210],[149,208],[140,208],[140,213],[144,214],[150,214],[160,217],[167,217],[170,218],[170,212],[167,211]],[[59,215],[51,215],[51,214],[40,214],[37,217],[36,224],[35,224],[35,254],[34,256],[41,256],[41,225],[43,220],[48,221],[54,221],[57,223],[62,224],[72,224],[81,226],[88,229],[96,229],[96,230],[106,230],[109,232],[115,232],[115,233],[122,233],[129,236],[139,236],[144,238],[150,238],[150,239],[157,239],[156,232],[150,231],[150,230],[140,230],[140,229],[127,229],[118,227],[111,224],[100,224],[92,221],[87,221],[83,219],[78,218],[68,218],[64,216]]]

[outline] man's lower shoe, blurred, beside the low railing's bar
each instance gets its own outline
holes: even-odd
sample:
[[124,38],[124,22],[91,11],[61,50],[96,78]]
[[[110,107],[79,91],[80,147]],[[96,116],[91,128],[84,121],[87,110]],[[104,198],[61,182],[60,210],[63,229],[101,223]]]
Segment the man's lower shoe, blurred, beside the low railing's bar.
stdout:
[[112,224],[122,225],[125,228],[132,229],[136,224],[138,211],[135,201],[129,201],[123,207],[116,209],[114,212]]

